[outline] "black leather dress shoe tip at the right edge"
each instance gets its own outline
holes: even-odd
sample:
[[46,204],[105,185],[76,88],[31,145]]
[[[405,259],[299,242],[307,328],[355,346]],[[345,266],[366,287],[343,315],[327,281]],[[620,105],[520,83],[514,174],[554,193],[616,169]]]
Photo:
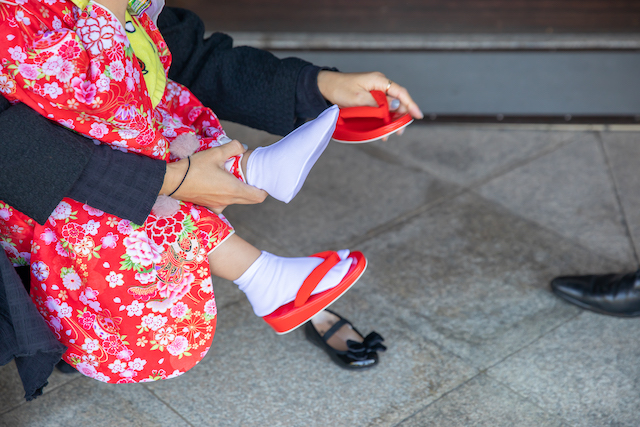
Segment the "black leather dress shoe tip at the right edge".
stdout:
[[627,274],[557,277],[551,281],[551,289],[560,298],[596,313],[640,316],[640,270]]

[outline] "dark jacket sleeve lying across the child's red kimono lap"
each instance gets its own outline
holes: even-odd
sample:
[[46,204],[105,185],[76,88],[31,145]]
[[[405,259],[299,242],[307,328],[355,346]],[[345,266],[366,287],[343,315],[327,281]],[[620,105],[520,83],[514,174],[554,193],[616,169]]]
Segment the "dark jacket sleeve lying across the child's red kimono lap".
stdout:
[[35,111],[0,97],[0,200],[44,224],[63,197],[141,224],[166,164],[96,146]]

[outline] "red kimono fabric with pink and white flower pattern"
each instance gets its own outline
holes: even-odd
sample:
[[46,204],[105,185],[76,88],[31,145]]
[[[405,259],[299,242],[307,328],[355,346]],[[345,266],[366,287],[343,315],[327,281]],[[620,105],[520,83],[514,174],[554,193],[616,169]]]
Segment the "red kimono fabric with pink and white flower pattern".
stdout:
[[[152,105],[124,28],[95,3],[0,4],[0,92],[114,149],[171,161],[191,133],[200,150],[226,140],[218,119],[168,82]],[[138,18],[166,73],[171,55],[153,22]],[[166,75],[166,74],[165,74]],[[63,199],[45,225],[0,201],[0,244],[31,266],[31,296],[64,359],[109,383],[178,376],[206,354],[217,309],[207,254],[233,233],[222,215],[180,202],[144,224]]]

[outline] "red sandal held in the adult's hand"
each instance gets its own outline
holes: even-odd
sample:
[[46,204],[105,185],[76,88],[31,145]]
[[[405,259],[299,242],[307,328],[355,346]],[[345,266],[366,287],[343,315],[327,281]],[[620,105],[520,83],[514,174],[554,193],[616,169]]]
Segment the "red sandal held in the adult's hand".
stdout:
[[384,138],[409,126],[413,119],[406,114],[389,111],[387,95],[372,90],[377,107],[342,108],[338,116],[333,139],[347,144],[362,144]]

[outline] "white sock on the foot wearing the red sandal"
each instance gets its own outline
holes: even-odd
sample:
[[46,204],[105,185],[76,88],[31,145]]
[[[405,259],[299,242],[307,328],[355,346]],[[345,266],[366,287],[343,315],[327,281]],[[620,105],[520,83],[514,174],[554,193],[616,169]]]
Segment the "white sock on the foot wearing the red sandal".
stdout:
[[[311,295],[340,283],[351,266],[349,254],[348,249],[338,251],[342,261],[329,270]],[[262,255],[233,283],[247,295],[256,316],[264,317],[296,299],[302,282],[323,261],[316,257],[284,258],[262,251]]]

